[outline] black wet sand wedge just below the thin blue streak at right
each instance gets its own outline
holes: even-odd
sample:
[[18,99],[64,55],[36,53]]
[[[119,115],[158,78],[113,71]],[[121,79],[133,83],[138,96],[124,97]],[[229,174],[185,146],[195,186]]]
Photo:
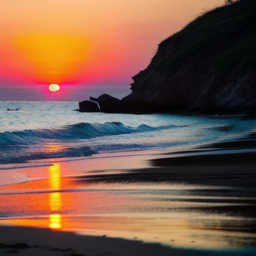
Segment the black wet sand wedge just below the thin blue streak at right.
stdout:
[[[238,162],[240,158],[243,161]],[[246,158],[253,158],[253,161],[244,161]],[[81,182],[184,182],[212,186],[255,187],[254,158],[254,153],[158,158],[150,161],[157,167],[132,170],[125,174],[86,175],[80,176],[79,179]],[[225,161],[221,162],[221,159]],[[229,162],[226,162],[226,159]],[[231,159],[234,161],[231,162]]]

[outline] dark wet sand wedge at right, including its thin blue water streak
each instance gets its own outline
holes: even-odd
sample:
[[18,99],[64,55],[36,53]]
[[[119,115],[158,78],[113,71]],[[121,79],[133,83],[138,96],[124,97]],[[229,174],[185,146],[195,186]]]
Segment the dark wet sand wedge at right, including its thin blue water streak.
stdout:
[[[256,188],[256,133],[238,139],[150,155],[149,166],[128,174],[86,175],[88,182],[185,182]],[[130,175],[129,175],[130,173]]]

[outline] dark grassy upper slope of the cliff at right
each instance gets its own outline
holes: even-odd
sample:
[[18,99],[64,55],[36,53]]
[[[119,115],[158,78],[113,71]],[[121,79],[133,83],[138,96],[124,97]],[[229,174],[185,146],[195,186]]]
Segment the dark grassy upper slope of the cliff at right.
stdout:
[[256,1],[240,0],[217,7],[159,44],[175,49],[163,59],[160,70],[174,73],[182,65],[207,53],[218,53],[214,69],[225,73],[240,65],[241,74],[255,69],[256,60]]

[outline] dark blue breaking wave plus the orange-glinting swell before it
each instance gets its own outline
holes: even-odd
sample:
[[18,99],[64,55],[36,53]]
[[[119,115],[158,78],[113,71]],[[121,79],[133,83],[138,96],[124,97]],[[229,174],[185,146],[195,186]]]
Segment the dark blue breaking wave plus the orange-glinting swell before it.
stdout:
[[[103,139],[93,146],[86,139],[130,133],[146,133],[159,129],[169,129],[174,125],[151,127],[125,126],[121,122],[76,123],[62,127],[0,133],[0,164],[25,163],[50,158],[76,158],[97,154],[98,151],[139,150],[143,147],[131,143],[115,143],[108,146],[109,139]],[[97,144],[97,143],[96,143]]]

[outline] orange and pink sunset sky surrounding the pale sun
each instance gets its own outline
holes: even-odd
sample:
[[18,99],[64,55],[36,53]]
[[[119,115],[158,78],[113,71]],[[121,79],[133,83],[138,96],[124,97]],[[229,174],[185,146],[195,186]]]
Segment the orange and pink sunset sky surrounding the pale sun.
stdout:
[[125,97],[161,41],[223,3],[0,0],[0,101]]

